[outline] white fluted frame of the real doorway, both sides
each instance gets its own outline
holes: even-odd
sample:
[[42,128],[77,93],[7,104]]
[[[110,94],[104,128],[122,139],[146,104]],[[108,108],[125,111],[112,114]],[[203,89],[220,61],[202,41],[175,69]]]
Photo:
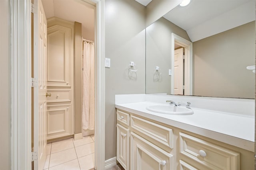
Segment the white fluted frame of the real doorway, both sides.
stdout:
[[[96,4],[95,168],[105,169],[105,0]],[[11,169],[31,170],[31,0],[10,0]]]

